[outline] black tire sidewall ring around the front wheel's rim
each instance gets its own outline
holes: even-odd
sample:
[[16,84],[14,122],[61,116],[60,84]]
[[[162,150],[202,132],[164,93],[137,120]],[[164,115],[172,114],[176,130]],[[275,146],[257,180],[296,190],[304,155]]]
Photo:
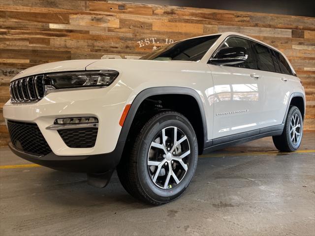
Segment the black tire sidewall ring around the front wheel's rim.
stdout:
[[[169,126],[175,126],[181,129],[187,136],[190,148],[190,159],[187,173],[182,181],[173,188],[162,189],[156,186],[149,176],[147,158],[149,148],[154,137],[160,130]],[[197,166],[198,146],[196,135],[191,124],[186,118],[180,116],[179,114],[161,114],[161,116],[152,120],[150,125],[147,127],[145,126],[143,135],[140,138],[142,138],[142,140],[140,142],[140,147],[138,149],[139,152],[137,155],[137,174],[143,191],[145,191],[146,195],[148,195],[152,200],[161,203],[169,202],[178,198],[188,187]]]

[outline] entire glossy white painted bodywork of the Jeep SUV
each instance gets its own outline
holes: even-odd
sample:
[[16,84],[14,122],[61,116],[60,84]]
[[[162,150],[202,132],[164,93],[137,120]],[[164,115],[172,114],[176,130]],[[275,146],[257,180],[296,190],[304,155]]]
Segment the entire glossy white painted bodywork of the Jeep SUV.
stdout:
[[[288,80],[284,82],[281,81],[283,74],[207,64],[221,42],[231,34],[247,37],[231,32],[221,34],[199,62],[100,59],[34,66],[12,80],[34,74],[85,69],[112,69],[120,74],[107,88],[55,91],[37,103],[11,104],[8,101],[3,107],[3,116],[36,122],[57,155],[100,154],[114,150],[121,131],[119,120],[126,104],[131,104],[144,89],[153,87],[194,89],[203,102],[208,140],[281,124],[289,95],[294,91],[304,93],[299,79],[285,75]],[[260,78],[252,78],[253,73],[259,74]],[[56,130],[46,129],[56,118],[79,116],[99,119],[94,148],[68,148]]]

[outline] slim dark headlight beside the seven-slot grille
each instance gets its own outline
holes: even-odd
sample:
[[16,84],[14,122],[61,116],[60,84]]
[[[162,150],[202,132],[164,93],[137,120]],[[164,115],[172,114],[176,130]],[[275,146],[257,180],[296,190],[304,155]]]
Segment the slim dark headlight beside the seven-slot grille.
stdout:
[[46,74],[46,89],[71,89],[108,86],[117,78],[115,70],[76,71]]

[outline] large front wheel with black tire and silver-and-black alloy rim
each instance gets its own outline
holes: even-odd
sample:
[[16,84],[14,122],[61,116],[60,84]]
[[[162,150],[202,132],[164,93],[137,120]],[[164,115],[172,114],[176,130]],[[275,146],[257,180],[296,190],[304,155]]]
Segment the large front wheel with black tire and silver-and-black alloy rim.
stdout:
[[129,142],[130,155],[117,168],[129,194],[160,205],[186,190],[198,158],[197,138],[187,118],[173,111],[160,112]]

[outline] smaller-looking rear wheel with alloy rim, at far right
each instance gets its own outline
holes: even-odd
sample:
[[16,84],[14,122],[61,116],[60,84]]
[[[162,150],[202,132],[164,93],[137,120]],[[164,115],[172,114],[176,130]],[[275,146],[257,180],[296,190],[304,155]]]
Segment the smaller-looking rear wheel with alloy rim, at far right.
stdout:
[[302,141],[303,119],[300,110],[291,106],[287,114],[284,132],[280,136],[273,136],[273,142],[280,151],[295,151]]

